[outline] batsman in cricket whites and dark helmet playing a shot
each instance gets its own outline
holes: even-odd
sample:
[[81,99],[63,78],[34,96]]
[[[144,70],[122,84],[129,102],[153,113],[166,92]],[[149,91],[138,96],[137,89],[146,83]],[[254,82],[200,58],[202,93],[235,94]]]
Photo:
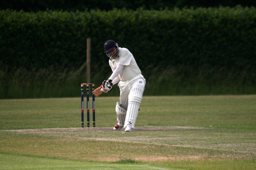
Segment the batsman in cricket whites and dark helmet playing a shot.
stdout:
[[125,132],[132,132],[138,116],[145,83],[141,70],[132,53],[127,48],[118,47],[114,40],[104,43],[104,53],[109,57],[109,66],[113,73],[104,80],[100,91],[108,93],[112,86],[118,83],[120,102],[116,103],[115,111],[118,128],[125,128]]

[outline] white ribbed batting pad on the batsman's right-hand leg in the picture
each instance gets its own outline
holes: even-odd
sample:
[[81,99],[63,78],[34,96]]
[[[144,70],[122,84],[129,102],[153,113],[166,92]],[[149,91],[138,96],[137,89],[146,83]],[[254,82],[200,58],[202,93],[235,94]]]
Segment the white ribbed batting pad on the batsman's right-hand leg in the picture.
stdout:
[[142,100],[143,91],[144,89],[141,87],[135,87],[131,89],[128,99],[128,108],[124,128],[126,128],[127,125],[130,125],[132,128],[134,128]]

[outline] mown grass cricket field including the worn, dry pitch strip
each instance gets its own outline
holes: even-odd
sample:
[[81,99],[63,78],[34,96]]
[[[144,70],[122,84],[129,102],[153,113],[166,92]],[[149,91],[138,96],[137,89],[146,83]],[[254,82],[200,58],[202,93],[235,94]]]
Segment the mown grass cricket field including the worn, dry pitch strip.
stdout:
[[256,95],[144,96],[133,132],[112,130],[118,99],[96,128],[80,98],[0,100],[0,169],[256,169]]

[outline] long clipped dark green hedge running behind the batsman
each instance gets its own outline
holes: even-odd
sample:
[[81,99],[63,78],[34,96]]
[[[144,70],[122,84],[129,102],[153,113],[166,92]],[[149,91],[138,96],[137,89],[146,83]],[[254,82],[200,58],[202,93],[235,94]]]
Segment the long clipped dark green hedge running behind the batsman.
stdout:
[[37,13],[6,10],[0,11],[0,20],[2,88],[10,83],[8,74],[19,68],[34,73],[49,68],[51,73],[79,68],[85,71],[86,38],[91,37],[91,79],[95,83],[111,73],[103,43],[114,39],[119,47],[133,53],[151,84],[146,87],[147,95],[159,94],[163,84],[170,89],[163,89],[159,95],[255,93],[254,7]]

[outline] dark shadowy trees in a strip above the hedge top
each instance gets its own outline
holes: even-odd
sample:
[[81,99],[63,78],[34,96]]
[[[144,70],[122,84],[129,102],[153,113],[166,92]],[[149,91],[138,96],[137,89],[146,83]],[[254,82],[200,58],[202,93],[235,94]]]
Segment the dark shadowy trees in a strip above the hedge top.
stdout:
[[255,1],[249,0],[1,0],[0,10],[12,9],[26,12],[46,10],[84,11],[113,9],[136,10],[144,7],[146,10],[173,9],[174,7],[219,7],[236,5],[256,6]]

